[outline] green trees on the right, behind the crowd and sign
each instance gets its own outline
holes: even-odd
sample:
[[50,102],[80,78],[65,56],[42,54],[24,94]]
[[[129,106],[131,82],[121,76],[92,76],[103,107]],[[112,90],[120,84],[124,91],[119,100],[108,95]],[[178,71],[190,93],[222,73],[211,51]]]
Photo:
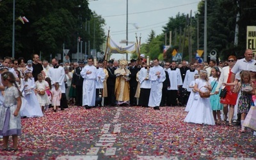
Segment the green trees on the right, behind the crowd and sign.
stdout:
[[[150,52],[150,54],[156,56],[156,54],[162,54],[163,51],[158,50],[154,54],[154,47],[157,49],[163,47],[164,34],[169,37],[170,31],[172,31],[172,47],[166,52],[164,61],[172,60],[172,51],[177,49],[178,52],[183,52],[183,58],[188,60],[188,27],[190,30],[191,44],[193,58],[195,56],[197,47],[197,42],[199,44],[199,49],[204,49],[204,3],[205,1],[200,1],[198,3],[198,10],[195,17],[191,19],[187,18],[184,13],[177,13],[176,17],[170,17],[169,21],[163,26],[161,43],[156,46],[156,43],[147,42],[147,47],[143,48]],[[253,0],[214,0],[207,1],[207,54],[215,49],[218,52],[218,56],[222,60],[227,59],[229,55],[243,56],[244,49],[246,49],[246,27],[256,26],[255,6],[256,2]],[[236,22],[237,13],[239,13],[239,20]],[[197,20],[198,26],[197,27]],[[188,23],[189,22],[189,23]],[[190,24],[190,26],[188,26]],[[236,24],[239,26],[238,44],[234,45],[235,39],[235,29]],[[199,39],[197,39],[197,28]],[[186,31],[186,36],[184,33]],[[149,36],[150,38],[150,36]],[[152,40],[154,42],[154,39]],[[169,44],[169,38],[167,38],[167,44]],[[153,47],[154,46],[154,47]],[[183,47],[184,46],[184,47]],[[147,50],[151,49],[151,50]]]

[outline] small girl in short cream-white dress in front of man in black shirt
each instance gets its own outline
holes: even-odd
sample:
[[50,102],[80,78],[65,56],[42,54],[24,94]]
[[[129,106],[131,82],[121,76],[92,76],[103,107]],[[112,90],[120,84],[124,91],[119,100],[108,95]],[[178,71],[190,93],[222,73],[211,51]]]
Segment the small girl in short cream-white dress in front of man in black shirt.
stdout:
[[36,98],[38,99],[42,112],[44,113],[45,106],[50,104],[49,97],[45,92],[46,90],[49,90],[49,84],[47,83],[47,81],[43,79],[42,74],[38,74],[37,79],[38,80],[36,81],[36,85],[35,85],[35,89],[37,92]]

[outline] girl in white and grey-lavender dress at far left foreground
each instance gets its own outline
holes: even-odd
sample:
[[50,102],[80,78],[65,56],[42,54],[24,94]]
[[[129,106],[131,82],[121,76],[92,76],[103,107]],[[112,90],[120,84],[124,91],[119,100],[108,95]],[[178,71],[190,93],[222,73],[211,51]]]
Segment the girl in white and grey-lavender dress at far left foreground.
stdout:
[[[4,103],[0,106],[0,135],[3,136],[2,151],[17,151],[18,135],[21,134],[20,107],[22,94],[19,91],[12,72],[1,75],[4,86]],[[13,86],[15,85],[15,86]],[[13,147],[8,148],[9,136],[12,135]]]

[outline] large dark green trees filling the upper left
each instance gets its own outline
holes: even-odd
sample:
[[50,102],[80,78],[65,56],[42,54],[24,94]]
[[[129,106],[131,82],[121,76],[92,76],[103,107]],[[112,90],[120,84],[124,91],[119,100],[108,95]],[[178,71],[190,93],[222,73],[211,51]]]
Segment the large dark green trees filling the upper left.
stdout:
[[[12,55],[12,10],[13,1],[0,2],[1,56]],[[22,24],[17,17],[26,16],[29,23]],[[90,40],[90,49],[100,51],[104,42],[104,19],[88,8],[86,0],[22,0],[15,3],[15,57],[42,52],[44,58],[62,53],[63,44],[71,53],[77,52],[77,37]],[[90,21],[90,23],[88,23]],[[94,27],[94,23],[95,27]],[[87,24],[88,23],[88,24]],[[87,26],[86,26],[87,24]],[[86,28],[90,25],[90,33]],[[93,36],[95,29],[95,36]],[[95,38],[95,39],[93,39]],[[83,47],[83,50],[84,47]]]

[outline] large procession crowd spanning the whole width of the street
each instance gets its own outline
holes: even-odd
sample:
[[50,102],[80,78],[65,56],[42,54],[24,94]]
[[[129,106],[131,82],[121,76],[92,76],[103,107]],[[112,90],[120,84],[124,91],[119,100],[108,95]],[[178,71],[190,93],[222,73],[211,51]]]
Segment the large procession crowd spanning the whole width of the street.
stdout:
[[[256,61],[252,50],[244,58],[229,56],[223,63],[215,60],[198,63],[150,63],[141,54],[140,60],[95,61],[88,58],[65,63],[53,58],[41,61],[5,57],[0,60],[0,136],[3,150],[8,150],[8,136],[13,135],[17,150],[20,117],[44,116],[46,109],[63,111],[68,104],[91,109],[101,106],[186,106],[184,122],[207,125],[243,122],[250,106],[254,106]],[[225,66],[223,66],[225,64]],[[227,91],[220,97],[221,90]],[[244,89],[246,88],[246,89]],[[208,96],[203,96],[208,94]],[[50,111],[51,111],[50,110]],[[10,114],[12,113],[12,114]],[[223,113],[223,114],[221,114]],[[4,118],[3,118],[4,117]],[[239,125],[240,125],[239,124]],[[16,136],[15,136],[16,135]]]

